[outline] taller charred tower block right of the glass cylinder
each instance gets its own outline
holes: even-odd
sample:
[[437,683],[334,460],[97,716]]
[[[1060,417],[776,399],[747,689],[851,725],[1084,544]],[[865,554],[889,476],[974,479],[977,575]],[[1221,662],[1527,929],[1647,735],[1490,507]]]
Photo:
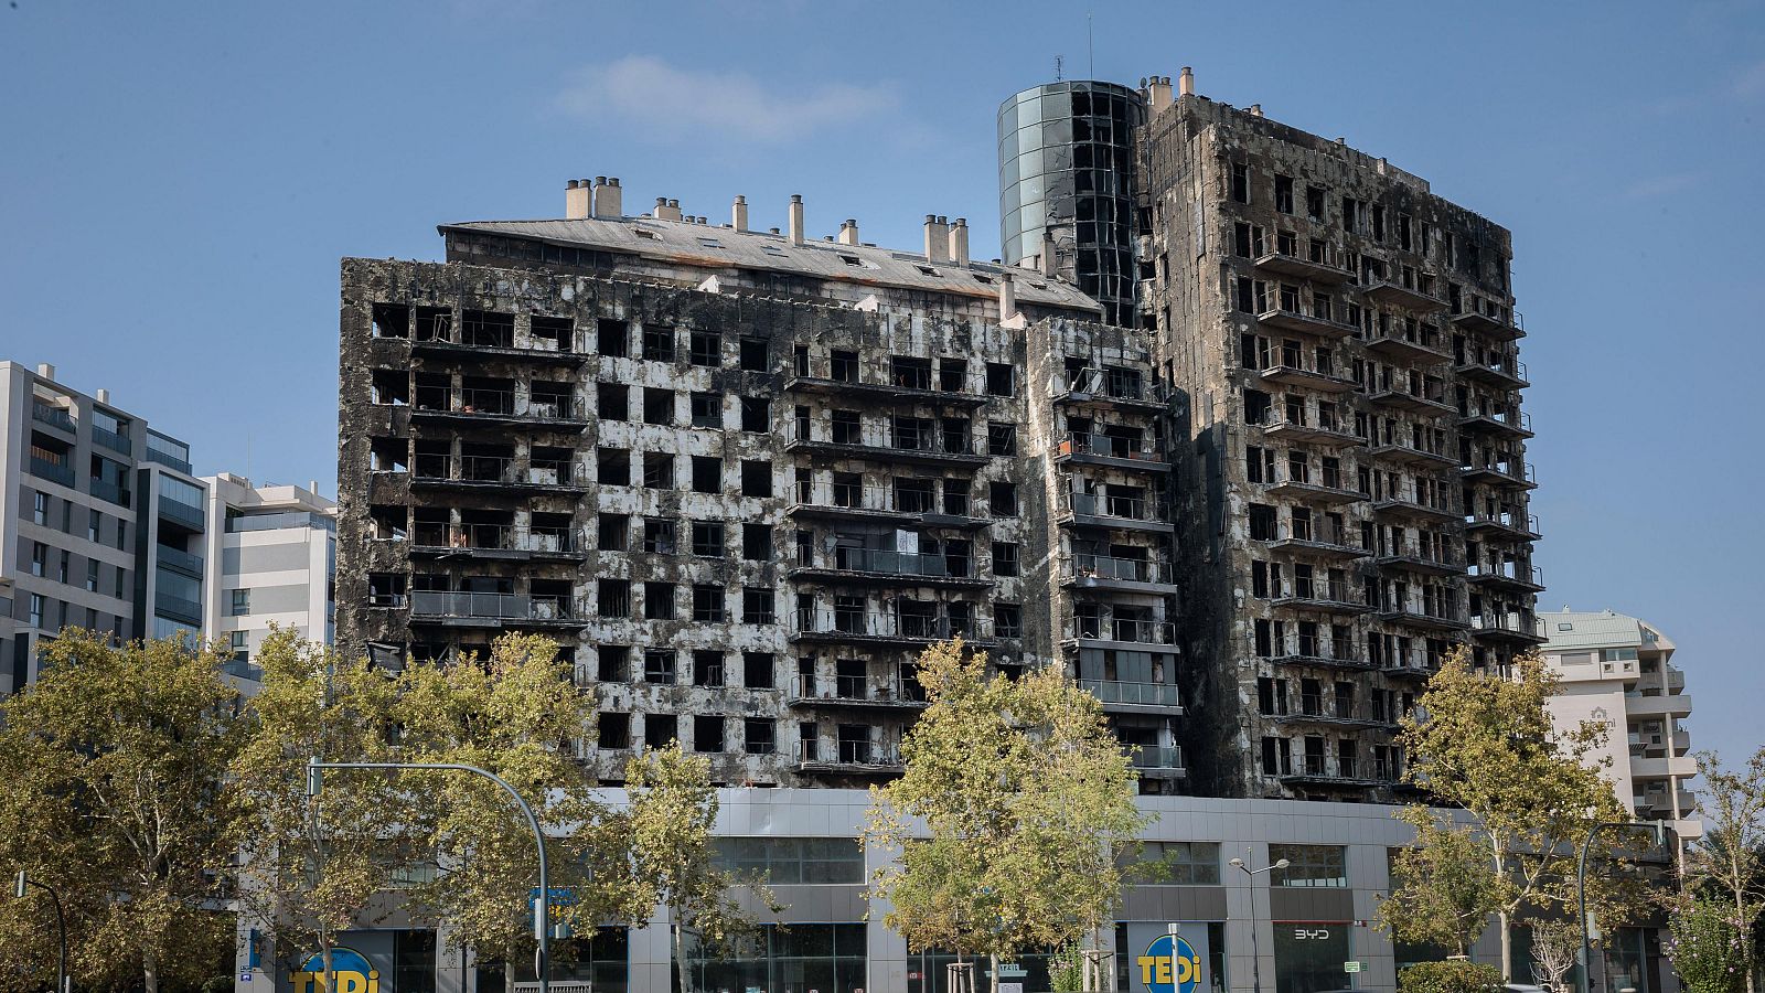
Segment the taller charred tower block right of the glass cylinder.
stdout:
[[1440,657],[1539,643],[1509,233],[1186,69],[1147,101],[1195,790],[1391,799]]

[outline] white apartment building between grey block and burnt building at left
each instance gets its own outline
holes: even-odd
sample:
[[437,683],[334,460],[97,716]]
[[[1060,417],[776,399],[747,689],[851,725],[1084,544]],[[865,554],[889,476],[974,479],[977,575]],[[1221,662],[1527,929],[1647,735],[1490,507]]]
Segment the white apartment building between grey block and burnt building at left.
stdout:
[[203,631],[233,650],[229,671],[259,675],[254,656],[270,625],[332,643],[332,572],[337,565],[337,502],[318,484],[252,486],[222,472],[208,484],[208,560]]

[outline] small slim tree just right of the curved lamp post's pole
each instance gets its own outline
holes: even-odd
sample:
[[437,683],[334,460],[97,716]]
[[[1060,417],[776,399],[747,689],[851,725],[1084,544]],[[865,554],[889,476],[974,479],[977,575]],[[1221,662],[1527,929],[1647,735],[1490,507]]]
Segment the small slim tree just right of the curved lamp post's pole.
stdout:
[[688,933],[704,949],[724,949],[750,935],[755,919],[743,908],[743,889],[773,913],[782,906],[764,880],[717,866],[711,829],[717,825],[718,804],[710,762],[683,753],[680,742],[672,742],[665,749],[632,756],[625,765],[625,830],[635,896],[630,901],[632,919],[648,919],[658,905],[667,908],[680,988],[692,993]]

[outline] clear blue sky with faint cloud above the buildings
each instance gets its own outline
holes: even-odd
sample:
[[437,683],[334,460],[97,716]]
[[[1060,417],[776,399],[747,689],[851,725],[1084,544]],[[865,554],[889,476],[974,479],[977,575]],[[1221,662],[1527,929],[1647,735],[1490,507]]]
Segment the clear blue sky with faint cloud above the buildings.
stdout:
[[[1386,155],[1514,231],[1541,606],[1680,645],[1693,739],[1761,740],[1765,7],[1098,4],[1094,76]],[[994,111],[1089,72],[1084,5],[0,4],[0,355],[194,447],[335,479],[337,260],[552,217],[572,177],[713,223],[997,253]]]

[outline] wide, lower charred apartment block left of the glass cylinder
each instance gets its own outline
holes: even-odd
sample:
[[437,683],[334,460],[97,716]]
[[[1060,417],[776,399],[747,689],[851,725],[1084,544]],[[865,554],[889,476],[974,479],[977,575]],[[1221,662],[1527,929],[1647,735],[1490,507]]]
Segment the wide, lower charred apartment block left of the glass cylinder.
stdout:
[[890,776],[950,636],[1066,666],[1179,792],[1175,551],[1149,339],[1034,270],[708,224],[618,180],[565,219],[342,262],[337,640],[445,661],[542,631],[584,762],[681,740],[729,785]]

